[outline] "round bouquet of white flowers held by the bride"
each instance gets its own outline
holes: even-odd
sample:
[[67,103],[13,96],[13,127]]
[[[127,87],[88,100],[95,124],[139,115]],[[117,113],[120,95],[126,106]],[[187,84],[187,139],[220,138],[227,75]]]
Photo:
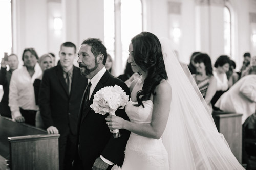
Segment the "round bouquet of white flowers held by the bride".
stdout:
[[[129,96],[118,85],[103,87],[93,96],[93,104],[90,106],[95,113],[115,115],[117,109],[123,109],[129,101]],[[114,130],[114,138],[120,137],[118,129]]]

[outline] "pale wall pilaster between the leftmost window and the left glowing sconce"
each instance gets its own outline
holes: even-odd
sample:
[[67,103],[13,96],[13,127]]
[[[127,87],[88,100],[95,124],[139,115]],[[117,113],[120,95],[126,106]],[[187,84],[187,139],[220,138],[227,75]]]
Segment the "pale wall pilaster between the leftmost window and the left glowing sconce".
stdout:
[[13,53],[18,55],[20,61],[24,48],[35,48],[39,56],[46,53],[47,2],[13,0],[12,10]]

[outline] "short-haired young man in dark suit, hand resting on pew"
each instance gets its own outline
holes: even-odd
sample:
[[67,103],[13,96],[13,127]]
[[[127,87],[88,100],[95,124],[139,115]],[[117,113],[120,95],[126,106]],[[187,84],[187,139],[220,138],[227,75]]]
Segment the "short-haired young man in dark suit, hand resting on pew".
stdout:
[[82,93],[88,80],[73,65],[76,46],[60,46],[60,64],[48,69],[42,77],[39,106],[48,133],[59,133],[59,169],[71,169],[74,159],[77,120]]

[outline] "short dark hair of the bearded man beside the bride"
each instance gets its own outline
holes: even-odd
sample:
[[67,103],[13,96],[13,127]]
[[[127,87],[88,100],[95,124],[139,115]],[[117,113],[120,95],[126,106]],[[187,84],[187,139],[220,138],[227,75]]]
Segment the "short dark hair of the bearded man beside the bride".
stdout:
[[82,42],[81,45],[90,45],[91,51],[94,55],[94,57],[96,58],[99,54],[103,54],[104,59],[102,64],[105,65],[106,64],[106,58],[107,57],[107,53],[106,53],[106,47],[102,44],[102,41],[98,38],[87,38],[86,40],[84,40]]

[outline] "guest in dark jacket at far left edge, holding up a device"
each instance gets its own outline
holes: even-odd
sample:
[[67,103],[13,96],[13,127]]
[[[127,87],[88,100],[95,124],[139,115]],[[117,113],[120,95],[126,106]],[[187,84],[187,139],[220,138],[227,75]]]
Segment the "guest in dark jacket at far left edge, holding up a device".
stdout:
[[[6,65],[9,65],[9,71],[6,70]],[[0,115],[12,118],[11,110],[8,106],[8,95],[9,95],[9,86],[12,76],[12,72],[18,68],[18,57],[16,54],[10,54],[8,60],[5,61],[3,58],[1,61],[0,69],[0,85],[3,86],[4,95],[0,103]]]

